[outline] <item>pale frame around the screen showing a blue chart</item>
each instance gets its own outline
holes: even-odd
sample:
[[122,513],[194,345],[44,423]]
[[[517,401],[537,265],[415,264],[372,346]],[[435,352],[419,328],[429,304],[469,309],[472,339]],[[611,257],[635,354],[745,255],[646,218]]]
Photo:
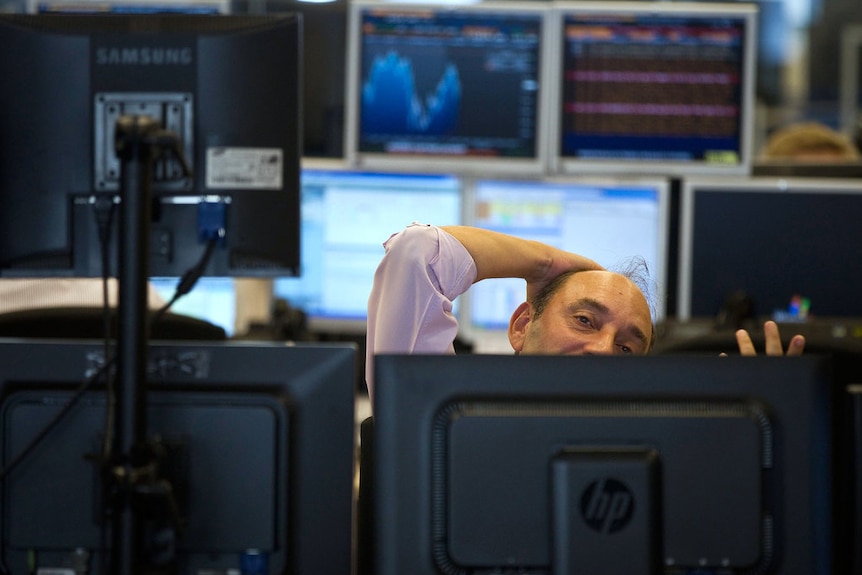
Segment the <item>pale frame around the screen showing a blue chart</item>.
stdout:
[[[430,10],[437,13],[487,13],[487,14],[531,14],[542,22],[539,57],[539,95],[536,101],[536,154],[532,158],[483,158],[436,155],[400,155],[369,153],[359,150],[360,85],[362,83],[362,35],[361,17],[367,10],[417,11]],[[501,173],[545,173],[549,164],[551,74],[554,69],[554,56],[548,42],[551,6],[542,3],[516,2],[478,2],[467,4],[434,4],[432,2],[384,2],[379,0],[357,0],[351,2],[348,13],[347,31],[347,81],[345,96],[345,157],[351,165],[363,169],[403,169],[408,171],[473,173],[494,170]]]

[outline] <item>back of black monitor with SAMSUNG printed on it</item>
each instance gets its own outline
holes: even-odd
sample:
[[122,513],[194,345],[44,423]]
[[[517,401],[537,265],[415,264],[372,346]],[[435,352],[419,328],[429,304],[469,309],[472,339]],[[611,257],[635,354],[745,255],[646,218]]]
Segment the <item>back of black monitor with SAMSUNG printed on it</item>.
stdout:
[[117,120],[144,116],[191,169],[151,166],[151,275],[210,244],[206,275],[297,273],[301,56],[292,14],[0,15],[0,274],[117,273]]

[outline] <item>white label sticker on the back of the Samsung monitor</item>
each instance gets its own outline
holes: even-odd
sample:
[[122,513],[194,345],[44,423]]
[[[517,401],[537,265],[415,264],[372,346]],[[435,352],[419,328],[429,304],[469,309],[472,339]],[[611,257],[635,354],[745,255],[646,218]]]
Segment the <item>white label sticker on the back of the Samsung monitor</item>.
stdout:
[[207,188],[280,190],[283,166],[278,148],[207,148]]

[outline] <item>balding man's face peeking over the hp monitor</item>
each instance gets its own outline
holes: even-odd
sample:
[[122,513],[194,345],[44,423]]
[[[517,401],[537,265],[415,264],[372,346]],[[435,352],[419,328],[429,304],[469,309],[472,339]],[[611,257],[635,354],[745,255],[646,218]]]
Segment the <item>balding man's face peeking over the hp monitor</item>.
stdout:
[[523,303],[512,315],[509,341],[521,354],[643,355],[652,320],[643,293],[608,271],[573,274],[541,315]]

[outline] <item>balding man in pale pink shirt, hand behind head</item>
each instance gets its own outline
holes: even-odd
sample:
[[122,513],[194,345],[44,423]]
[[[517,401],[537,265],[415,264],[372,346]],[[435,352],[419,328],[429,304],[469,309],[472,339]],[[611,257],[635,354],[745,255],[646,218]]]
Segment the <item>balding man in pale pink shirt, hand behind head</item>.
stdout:
[[[366,384],[382,353],[454,353],[458,322],[452,302],[483,279],[522,278],[527,301],[509,322],[509,342],[521,354],[633,354],[652,348],[648,293],[631,277],[577,254],[468,226],[413,224],[390,237],[368,302]],[[773,322],[764,326],[766,352],[783,355]],[[751,338],[737,333],[743,355]],[[805,347],[794,336],[787,354]]]

